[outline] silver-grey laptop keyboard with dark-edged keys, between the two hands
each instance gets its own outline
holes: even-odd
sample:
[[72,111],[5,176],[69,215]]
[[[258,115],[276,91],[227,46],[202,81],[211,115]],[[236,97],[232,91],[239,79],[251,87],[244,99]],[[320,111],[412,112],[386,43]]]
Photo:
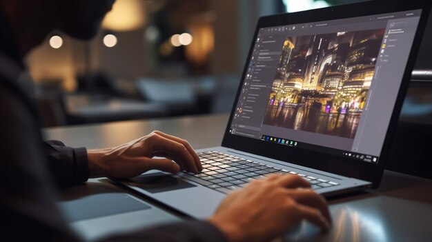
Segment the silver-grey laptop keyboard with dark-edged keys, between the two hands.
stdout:
[[199,174],[179,172],[178,175],[224,194],[244,187],[253,179],[262,179],[271,174],[296,174],[311,183],[314,190],[339,185],[339,183],[334,181],[274,168],[270,165],[264,165],[222,152],[208,151],[199,153],[198,155],[204,170]]

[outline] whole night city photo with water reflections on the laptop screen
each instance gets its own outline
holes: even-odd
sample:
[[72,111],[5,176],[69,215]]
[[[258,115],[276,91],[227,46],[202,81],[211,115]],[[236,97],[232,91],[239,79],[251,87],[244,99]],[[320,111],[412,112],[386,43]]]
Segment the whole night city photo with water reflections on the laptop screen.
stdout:
[[385,43],[384,29],[287,37],[264,124],[353,139]]

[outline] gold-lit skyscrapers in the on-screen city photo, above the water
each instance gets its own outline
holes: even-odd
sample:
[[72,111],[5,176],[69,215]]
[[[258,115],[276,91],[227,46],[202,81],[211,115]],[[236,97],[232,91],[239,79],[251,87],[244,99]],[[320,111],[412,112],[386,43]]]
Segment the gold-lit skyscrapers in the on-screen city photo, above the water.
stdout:
[[287,38],[270,103],[360,106],[372,83],[382,37],[381,30],[366,30]]

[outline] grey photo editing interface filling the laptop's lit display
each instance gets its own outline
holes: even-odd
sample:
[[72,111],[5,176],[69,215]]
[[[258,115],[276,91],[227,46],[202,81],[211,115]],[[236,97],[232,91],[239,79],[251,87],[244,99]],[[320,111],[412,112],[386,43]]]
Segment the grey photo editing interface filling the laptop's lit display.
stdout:
[[420,14],[260,28],[230,134],[378,163]]

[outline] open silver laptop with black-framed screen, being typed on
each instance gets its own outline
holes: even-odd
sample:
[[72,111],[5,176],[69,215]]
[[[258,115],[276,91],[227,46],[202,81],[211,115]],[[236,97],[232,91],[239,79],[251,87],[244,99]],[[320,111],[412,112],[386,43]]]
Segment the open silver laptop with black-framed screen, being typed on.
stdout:
[[202,173],[117,182],[199,219],[270,174],[324,196],[377,188],[430,8],[370,1],[261,17],[222,145],[197,150]]

